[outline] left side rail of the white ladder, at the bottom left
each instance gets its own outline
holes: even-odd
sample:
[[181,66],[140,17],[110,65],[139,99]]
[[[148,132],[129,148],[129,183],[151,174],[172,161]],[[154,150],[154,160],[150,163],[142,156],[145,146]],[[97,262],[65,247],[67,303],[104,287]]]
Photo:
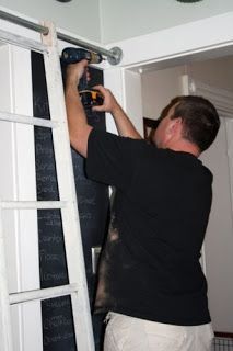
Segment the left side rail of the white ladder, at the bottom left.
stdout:
[[0,208],[0,346],[1,351],[13,351],[11,313],[8,290],[2,210]]

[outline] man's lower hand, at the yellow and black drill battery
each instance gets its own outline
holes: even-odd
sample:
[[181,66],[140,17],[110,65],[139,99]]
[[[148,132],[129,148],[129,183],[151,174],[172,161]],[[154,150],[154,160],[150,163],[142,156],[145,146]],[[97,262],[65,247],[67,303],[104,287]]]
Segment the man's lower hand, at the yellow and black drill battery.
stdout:
[[118,102],[114,98],[113,93],[110,92],[109,89],[104,88],[103,86],[95,86],[93,87],[95,90],[98,90],[103,98],[104,102],[100,106],[93,106],[93,111],[98,111],[98,112],[110,112],[113,115],[117,112],[117,110],[120,109]]

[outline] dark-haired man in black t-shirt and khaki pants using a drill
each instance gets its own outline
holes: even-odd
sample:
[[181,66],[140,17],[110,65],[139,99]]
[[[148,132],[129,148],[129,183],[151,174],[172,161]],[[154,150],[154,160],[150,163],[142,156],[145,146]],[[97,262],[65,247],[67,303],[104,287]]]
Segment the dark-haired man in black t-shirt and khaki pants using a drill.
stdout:
[[70,65],[66,104],[72,146],[88,177],[114,185],[112,223],[100,268],[96,310],[108,312],[105,351],[207,351],[213,337],[199,263],[212,197],[212,174],[198,156],[220,121],[200,97],[173,100],[155,146],[140,135],[103,87],[103,106],[121,136],[86,123],[77,86],[85,60]]

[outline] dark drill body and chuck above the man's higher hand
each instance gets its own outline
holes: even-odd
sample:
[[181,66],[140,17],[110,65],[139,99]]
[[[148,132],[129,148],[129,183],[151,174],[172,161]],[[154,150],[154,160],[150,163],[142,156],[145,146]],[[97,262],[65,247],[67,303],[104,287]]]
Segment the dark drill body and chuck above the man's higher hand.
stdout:
[[86,59],[89,64],[100,64],[103,57],[101,54],[75,47],[66,47],[61,53],[61,61],[67,65],[79,63],[82,59]]

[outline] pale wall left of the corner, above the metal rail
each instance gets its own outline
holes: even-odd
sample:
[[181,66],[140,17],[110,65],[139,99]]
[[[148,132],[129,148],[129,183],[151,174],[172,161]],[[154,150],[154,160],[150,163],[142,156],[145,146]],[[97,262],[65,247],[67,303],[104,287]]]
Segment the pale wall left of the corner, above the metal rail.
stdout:
[[59,29],[101,42],[98,0],[0,0],[0,7],[35,20],[53,21]]

